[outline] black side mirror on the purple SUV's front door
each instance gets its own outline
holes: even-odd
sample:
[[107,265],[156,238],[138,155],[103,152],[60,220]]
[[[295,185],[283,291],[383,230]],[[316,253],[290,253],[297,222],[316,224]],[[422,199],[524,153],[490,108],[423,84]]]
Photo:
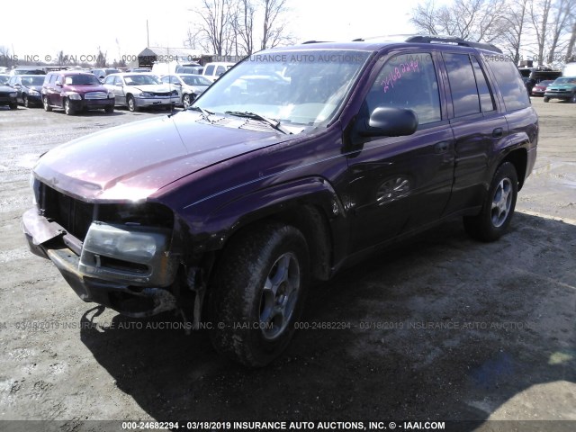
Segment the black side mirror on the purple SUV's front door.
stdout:
[[405,108],[378,107],[360,124],[358,132],[365,137],[402,137],[418,130],[416,112]]

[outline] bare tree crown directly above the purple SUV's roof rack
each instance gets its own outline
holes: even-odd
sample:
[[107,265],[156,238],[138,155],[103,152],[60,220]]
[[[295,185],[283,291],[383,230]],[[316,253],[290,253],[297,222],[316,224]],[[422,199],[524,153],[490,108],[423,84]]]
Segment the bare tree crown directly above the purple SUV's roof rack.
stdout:
[[410,21],[419,31],[430,34],[493,42],[506,29],[502,19],[505,11],[506,3],[500,0],[455,0],[439,7],[430,0],[414,9]]

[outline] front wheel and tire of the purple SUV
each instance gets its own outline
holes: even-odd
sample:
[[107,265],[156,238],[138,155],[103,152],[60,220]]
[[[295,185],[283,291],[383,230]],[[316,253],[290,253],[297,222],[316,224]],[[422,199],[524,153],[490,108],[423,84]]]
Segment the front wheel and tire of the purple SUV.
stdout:
[[215,275],[208,298],[212,345],[243,365],[268,365],[288,346],[302,314],[305,238],[282,224],[241,232],[224,249]]

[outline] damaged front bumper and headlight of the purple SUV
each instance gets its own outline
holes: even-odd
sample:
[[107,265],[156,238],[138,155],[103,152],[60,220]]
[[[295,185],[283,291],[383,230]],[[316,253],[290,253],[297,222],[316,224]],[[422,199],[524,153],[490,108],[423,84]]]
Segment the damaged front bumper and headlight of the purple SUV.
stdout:
[[81,242],[37,209],[22,226],[31,252],[51,260],[83,301],[133,318],[176,309],[169,229],[94,221]]

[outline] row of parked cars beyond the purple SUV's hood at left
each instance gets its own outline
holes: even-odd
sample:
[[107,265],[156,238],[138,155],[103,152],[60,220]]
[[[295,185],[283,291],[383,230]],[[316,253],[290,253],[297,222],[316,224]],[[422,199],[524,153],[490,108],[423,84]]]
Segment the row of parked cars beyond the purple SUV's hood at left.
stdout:
[[[168,110],[175,105],[187,108],[193,100],[221,76],[231,63],[209,63],[206,67],[187,65],[175,68],[175,73],[157,76],[149,69],[120,72],[114,68],[85,71],[56,71],[37,75],[0,75],[0,104],[16,109],[43,106],[46,111],[64,110],[74,114],[103,109],[113,112],[115,106],[125,106],[131,112],[151,106]],[[41,71],[40,71],[41,72]],[[200,75],[205,72],[208,75]]]

